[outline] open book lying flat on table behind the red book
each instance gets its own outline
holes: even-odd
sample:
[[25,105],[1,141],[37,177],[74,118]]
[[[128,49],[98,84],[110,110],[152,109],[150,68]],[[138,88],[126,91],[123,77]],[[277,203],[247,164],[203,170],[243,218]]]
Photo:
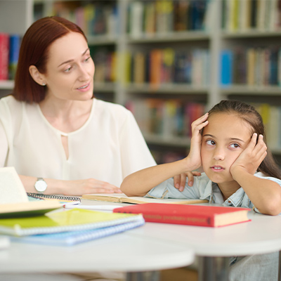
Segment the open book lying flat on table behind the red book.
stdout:
[[105,201],[105,202],[116,202],[116,203],[131,203],[131,204],[145,204],[145,203],[162,203],[162,204],[199,204],[207,203],[208,200],[200,199],[174,199],[174,198],[154,198],[154,197],[128,197],[124,193],[93,193],[84,194],[82,199]]

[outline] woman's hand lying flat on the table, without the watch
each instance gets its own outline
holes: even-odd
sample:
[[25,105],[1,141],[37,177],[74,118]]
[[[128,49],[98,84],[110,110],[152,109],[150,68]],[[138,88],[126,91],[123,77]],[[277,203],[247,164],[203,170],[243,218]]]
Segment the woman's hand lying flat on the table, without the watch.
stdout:
[[122,193],[122,191],[115,185],[106,183],[105,181],[98,181],[94,178],[65,181],[65,187],[63,188],[64,195],[81,196],[89,193]]

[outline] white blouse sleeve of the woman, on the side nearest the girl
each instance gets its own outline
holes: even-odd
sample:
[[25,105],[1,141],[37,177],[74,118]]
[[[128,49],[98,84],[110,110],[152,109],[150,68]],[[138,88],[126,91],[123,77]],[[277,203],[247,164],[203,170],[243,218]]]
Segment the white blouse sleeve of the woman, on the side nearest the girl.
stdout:
[[148,145],[136,123],[133,114],[128,110],[128,115],[120,129],[120,145],[123,178],[135,171],[155,166]]

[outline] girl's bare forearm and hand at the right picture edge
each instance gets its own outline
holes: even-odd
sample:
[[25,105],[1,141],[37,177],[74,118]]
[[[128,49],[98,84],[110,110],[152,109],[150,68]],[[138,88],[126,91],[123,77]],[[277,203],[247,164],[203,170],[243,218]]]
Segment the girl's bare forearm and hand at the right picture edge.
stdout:
[[247,148],[230,167],[230,173],[247,193],[254,206],[263,214],[277,215],[281,212],[281,186],[275,181],[254,176],[254,172],[266,157],[263,136],[256,143],[256,133]]

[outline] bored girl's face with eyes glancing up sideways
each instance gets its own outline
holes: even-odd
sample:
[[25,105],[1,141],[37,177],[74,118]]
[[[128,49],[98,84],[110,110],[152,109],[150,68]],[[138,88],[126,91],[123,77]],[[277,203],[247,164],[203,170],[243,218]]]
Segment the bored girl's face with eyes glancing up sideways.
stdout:
[[214,183],[234,182],[230,166],[251,140],[251,126],[235,114],[213,113],[202,134],[204,172]]

